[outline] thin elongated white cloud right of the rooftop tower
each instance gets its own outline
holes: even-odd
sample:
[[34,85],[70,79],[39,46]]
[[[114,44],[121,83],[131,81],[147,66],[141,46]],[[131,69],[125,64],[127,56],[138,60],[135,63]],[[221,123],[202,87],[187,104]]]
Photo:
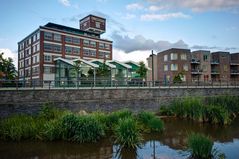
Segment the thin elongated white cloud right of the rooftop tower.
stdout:
[[190,15],[184,14],[182,12],[176,12],[176,13],[167,13],[167,14],[143,14],[141,15],[141,20],[168,20],[172,18],[191,18]]

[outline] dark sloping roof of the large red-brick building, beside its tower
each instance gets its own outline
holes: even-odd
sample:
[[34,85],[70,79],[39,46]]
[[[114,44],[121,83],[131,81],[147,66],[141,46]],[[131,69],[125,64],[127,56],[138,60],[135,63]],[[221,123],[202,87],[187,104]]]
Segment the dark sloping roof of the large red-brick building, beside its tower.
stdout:
[[47,23],[46,25],[44,25],[44,27],[52,28],[52,29],[58,29],[58,30],[62,30],[62,31],[65,31],[65,32],[79,34],[79,35],[85,35],[85,34],[87,34],[89,36],[99,36],[100,35],[100,34],[97,34],[97,33],[92,33],[92,32],[88,32],[88,31],[84,31],[84,30],[80,30],[80,29],[76,29],[76,28],[71,28],[71,27],[68,27],[68,26],[55,24],[55,23]]

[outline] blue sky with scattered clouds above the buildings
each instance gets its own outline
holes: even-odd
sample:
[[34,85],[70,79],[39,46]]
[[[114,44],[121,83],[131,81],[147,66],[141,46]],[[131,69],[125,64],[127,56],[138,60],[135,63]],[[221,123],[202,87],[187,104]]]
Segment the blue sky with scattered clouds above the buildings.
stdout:
[[17,42],[48,22],[79,28],[106,18],[113,58],[146,61],[172,47],[239,52],[239,0],[0,0],[0,52],[17,62]]

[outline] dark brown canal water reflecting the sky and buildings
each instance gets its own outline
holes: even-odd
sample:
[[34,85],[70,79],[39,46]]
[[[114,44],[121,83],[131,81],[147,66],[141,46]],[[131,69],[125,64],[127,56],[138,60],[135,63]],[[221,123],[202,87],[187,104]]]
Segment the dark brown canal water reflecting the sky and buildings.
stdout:
[[239,118],[229,126],[212,126],[175,118],[164,119],[163,134],[144,136],[136,150],[119,149],[114,137],[108,136],[93,144],[69,142],[4,142],[0,141],[0,159],[184,159],[190,153],[186,149],[190,132],[210,135],[214,148],[227,159],[239,158]]

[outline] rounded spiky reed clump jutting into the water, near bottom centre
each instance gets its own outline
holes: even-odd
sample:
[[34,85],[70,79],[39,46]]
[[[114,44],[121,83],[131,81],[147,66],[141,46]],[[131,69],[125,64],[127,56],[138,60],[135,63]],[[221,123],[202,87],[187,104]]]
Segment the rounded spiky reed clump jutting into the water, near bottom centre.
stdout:
[[116,143],[124,148],[136,148],[142,140],[137,122],[132,117],[120,119],[114,133]]

